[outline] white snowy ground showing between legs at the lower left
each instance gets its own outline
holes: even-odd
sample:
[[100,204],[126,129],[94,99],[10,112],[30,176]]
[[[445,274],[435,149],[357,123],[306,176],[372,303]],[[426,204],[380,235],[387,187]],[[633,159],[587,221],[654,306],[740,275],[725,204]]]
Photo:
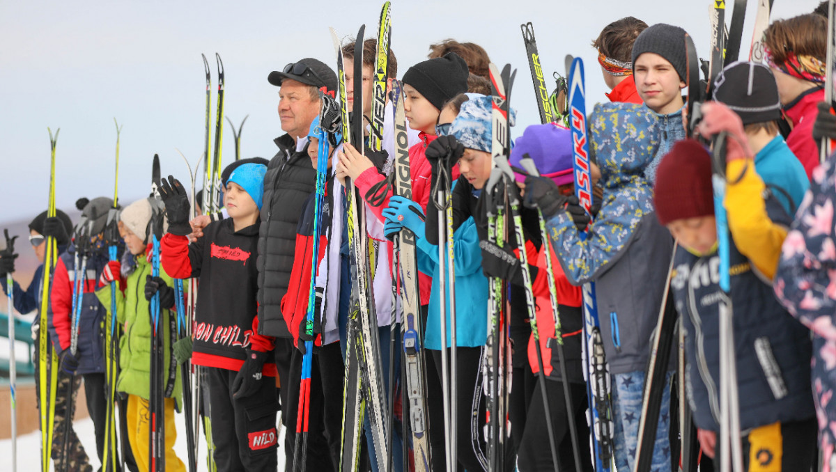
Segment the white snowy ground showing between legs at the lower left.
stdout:
[[[186,454],[186,433],[183,428],[181,415],[177,415],[177,441],[175,450],[177,456],[184,462],[188,455]],[[99,467],[99,458],[96,457],[96,440],[93,432],[93,420],[85,418],[75,422],[75,432],[79,434],[81,444],[84,444],[84,449],[90,456],[90,464],[94,469]],[[284,428],[278,435],[278,470],[284,470]],[[18,437],[18,470],[39,470],[41,467],[41,434],[35,431],[30,434],[25,434]],[[0,457],[3,463],[7,464],[3,467],[5,470],[11,470],[12,461],[12,439],[0,440]],[[6,467],[8,466],[8,469]],[[54,468],[50,465],[50,470]],[[206,469],[206,442],[201,440],[200,455],[197,460],[197,470],[205,472]]]

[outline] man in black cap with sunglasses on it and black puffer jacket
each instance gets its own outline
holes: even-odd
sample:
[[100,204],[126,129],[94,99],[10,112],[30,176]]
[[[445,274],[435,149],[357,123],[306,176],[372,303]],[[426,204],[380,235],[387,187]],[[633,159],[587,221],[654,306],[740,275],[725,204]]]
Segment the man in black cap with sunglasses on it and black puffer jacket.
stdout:
[[[298,219],[305,199],[314,191],[316,180],[316,170],[308,158],[308,131],[319,114],[320,94],[335,96],[337,75],[319,60],[303,58],[288,63],[280,72],[271,72],[268,81],[280,87],[278,116],[285,134],[274,140],[278,153],[270,160],[264,175],[257,261],[258,331],[277,338],[276,367],[283,385],[282,419],[288,426],[285,451],[287,463],[293,464],[302,356],[293,347],[281,302],[288,291],[293,270]],[[317,377],[312,375],[312,379]],[[312,387],[311,393],[309,427],[320,431],[308,435],[308,469],[334,469],[328,444],[321,434],[322,389]]]

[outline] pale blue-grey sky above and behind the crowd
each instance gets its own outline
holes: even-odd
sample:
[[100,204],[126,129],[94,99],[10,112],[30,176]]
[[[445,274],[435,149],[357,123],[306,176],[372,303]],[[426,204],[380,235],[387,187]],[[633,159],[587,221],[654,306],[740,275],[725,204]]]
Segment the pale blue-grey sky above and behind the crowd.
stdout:
[[[709,1],[532,0],[395,1],[392,48],[399,76],[426,58],[444,38],[481,44],[500,65],[518,69],[512,92],[516,130],[538,121],[520,23],[533,22],[543,68],[563,69],[567,53],[584,58],[588,106],[604,101],[603,79],[590,47],[609,22],[633,15],[648,24],[672,23],[695,38],[706,57]],[[748,51],[755,17],[749,1],[742,51]],[[809,13],[818,0],[777,0],[772,18]],[[47,127],[61,128],[57,154],[59,208],[79,196],[112,196],[115,128],[124,124],[120,202],[143,197],[150,162],[159,153],[164,175],[186,180],[182,150],[192,163],[203,151],[204,74],[201,53],[212,66],[221,53],[226,68],[224,113],[239,124],[242,156],[275,154],[279,128],[274,69],[312,56],[334,63],[328,27],[353,35],[360,23],[374,33],[381,2],[145,2],[84,1],[0,3],[0,221],[28,219],[46,208],[49,178]],[[731,4],[726,21],[731,15]],[[743,56],[744,54],[742,54]],[[550,84],[551,88],[552,85]],[[214,100],[212,94],[212,120]],[[234,159],[226,120],[223,161]],[[198,185],[200,186],[200,185]]]

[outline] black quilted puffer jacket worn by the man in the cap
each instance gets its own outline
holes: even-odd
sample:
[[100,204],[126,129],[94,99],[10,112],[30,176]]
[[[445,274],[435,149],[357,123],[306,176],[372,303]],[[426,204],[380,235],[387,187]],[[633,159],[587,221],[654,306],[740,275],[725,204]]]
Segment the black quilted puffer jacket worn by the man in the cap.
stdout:
[[288,291],[302,207],[314,191],[316,170],[308,146],[296,152],[289,134],[274,140],[276,154],[264,175],[264,204],[258,231],[258,333],[291,338],[282,316],[282,297]]

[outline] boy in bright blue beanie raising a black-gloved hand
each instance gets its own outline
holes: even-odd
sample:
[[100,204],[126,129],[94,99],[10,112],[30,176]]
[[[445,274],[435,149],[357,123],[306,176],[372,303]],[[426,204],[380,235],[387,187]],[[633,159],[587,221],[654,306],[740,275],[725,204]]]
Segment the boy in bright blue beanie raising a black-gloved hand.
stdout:
[[[229,218],[191,243],[189,200],[171,175],[157,184],[169,226],[162,266],[174,278],[200,277],[191,363],[201,366],[212,409],[218,470],[276,470],[278,401],[273,338],[257,334],[259,210],[267,166],[241,165],[227,180]],[[268,377],[268,378],[265,378]]]

